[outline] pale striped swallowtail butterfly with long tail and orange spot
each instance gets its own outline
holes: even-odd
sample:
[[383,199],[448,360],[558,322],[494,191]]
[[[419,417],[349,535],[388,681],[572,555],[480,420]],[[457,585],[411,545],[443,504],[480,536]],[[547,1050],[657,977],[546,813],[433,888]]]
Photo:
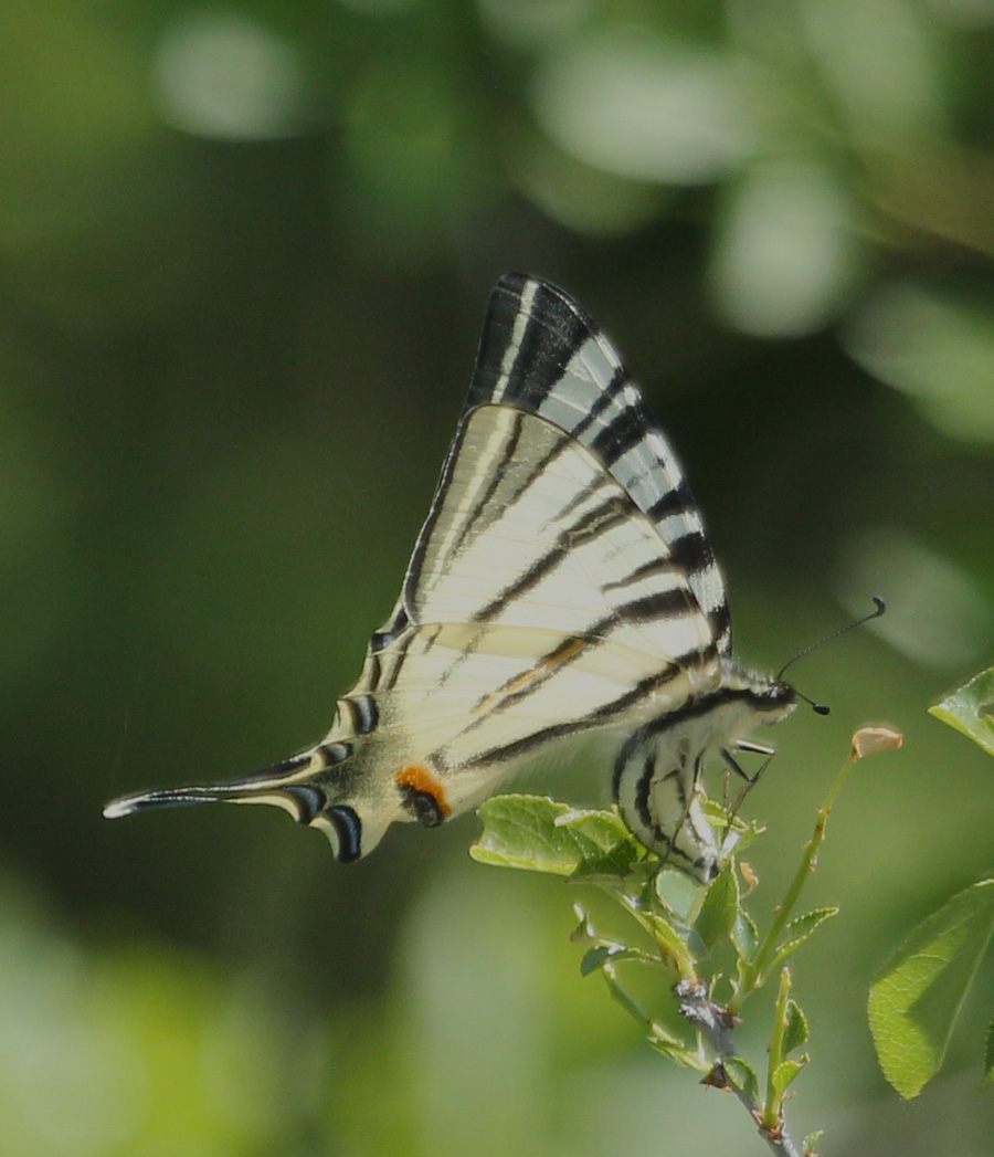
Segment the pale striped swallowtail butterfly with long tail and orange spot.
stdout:
[[792,687],[732,656],[721,573],[667,440],[594,322],[507,274],[396,605],[314,747],[254,775],[125,796],[146,808],[273,803],[357,860],[395,820],[435,827],[568,737],[613,745],[638,839],[699,879],[722,840],[710,761]]

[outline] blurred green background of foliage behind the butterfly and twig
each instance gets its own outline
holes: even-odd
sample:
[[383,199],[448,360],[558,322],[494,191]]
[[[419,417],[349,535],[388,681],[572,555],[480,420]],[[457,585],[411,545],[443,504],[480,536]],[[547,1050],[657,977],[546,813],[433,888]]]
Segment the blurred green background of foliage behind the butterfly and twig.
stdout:
[[749,801],[762,911],[852,730],[906,732],[811,885],[792,1126],[989,1154],[994,985],[907,1106],[863,1005],[992,863],[989,760],[925,708],[994,635],[994,0],[7,0],[0,142],[2,1157],[766,1151],[473,817],[353,867],[270,809],[101,818],[324,732],[513,268],[643,382],[743,657],[888,598]]

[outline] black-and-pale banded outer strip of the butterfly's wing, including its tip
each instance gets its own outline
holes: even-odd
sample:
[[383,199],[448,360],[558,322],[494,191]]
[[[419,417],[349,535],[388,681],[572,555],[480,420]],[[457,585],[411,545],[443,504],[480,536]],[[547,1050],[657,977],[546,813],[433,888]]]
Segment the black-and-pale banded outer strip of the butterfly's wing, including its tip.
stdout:
[[603,463],[659,526],[729,653],[724,583],[676,456],[614,347],[562,289],[521,273],[497,282],[466,412],[488,404],[537,414]]

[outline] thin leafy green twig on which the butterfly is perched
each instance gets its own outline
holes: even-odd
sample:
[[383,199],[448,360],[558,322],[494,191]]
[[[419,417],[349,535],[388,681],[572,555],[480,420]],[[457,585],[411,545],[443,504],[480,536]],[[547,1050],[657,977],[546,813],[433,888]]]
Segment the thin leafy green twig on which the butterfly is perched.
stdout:
[[[801,1052],[807,1019],[791,995],[786,961],[838,909],[793,913],[817,864],[829,812],[856,760],[899,745],[900,736],[887,729],[856,732],[791,886],[762,936],[744,902],[756,883],[747,864],[729,857],[711,884],[696,884],[647,852],[614,810],[577,810],[540,796],[498,796],[481,806],[483,834],[470,852],[481,863],[562,876],[607,897],[608,916],[623,913],[620,931],[602,929],[588,905],[573,906],[579,923],[572,939],[586,948],[583,974],[599,972],[604,978],[654,1049],[699,1073],[703,1084],[737,1097],[773,1152],[813,1157],[819,1134],[799,1145],[784,1115],[788,1089],[808,1063]],[[713,824],[734,825],[736,855],[761,834],[713,802],[705,808]],[[744,890],[740,877],[748,884]],[[646,973],[654,981],[648,998],[638,992]],[[766,985],[776,985],[777,995],[761,1081],[757,1066],[740,1055],[735,1030],[748,998]]]

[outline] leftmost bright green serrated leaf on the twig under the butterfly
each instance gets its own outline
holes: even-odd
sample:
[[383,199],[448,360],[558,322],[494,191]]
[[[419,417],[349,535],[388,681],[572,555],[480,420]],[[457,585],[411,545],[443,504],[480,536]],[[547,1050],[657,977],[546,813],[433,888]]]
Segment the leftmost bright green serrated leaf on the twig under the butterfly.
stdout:
[[504,795],[480,806],[483,832],[474,860],[502,868],[572,876],[580,870],[622,872],[644,853],[609,811],[577,811],[544,796]]

